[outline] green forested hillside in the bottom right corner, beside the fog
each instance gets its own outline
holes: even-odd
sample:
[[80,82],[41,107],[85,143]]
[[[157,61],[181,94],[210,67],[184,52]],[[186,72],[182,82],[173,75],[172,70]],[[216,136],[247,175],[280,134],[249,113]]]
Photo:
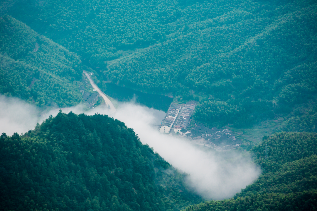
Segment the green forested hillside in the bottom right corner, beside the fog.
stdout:
[[185,210],[315,210],[317,134],[276,133],[252,149],[263,173],[234,198]]

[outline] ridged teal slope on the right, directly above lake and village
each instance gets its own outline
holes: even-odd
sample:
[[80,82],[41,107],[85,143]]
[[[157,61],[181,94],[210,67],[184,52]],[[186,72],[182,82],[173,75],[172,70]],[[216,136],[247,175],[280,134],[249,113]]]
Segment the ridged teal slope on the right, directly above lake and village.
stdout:
[[194,118],[212,126],[272,119],[316,96],[317,4],[297,3],[199,21],[105,73],[145,92],[200,99]]

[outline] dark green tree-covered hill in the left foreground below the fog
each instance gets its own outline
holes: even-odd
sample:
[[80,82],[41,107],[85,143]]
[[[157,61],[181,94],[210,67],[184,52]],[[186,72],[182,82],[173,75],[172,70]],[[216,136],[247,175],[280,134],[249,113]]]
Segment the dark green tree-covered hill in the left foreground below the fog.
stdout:
[[179,210],[201,201],[131,128],[61,111],[0,137],[1,210]]

